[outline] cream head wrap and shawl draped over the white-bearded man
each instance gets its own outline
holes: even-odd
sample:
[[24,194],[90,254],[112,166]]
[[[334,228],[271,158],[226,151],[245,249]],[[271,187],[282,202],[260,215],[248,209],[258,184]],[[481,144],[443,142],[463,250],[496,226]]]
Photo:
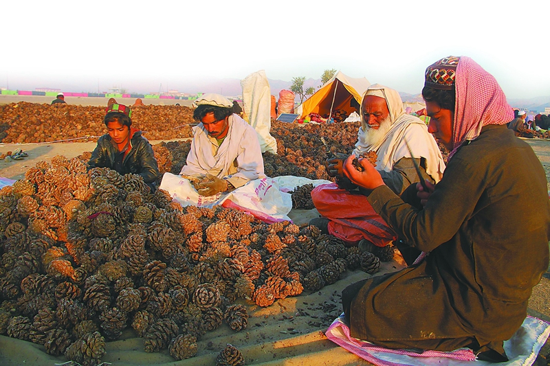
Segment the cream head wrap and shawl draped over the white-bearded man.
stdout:
[[[365,131],[369,126],[363,119],[363,102],[367,95],[374,95],[386,100],[391,120],[391,128],[384,139],[372,145],[366,143]],[[358,156],[362,152],[375,151],[378,155],[377,169],[389,172],[399,159],[411,157],[411,152],[405,144],[407,141],[415,158],[426,159],[426,172],[436,182],[441,179],[445,163],[437,142],[428,133],[428,127],[421,119],[405,113],[403,101],[397,91],[384,87],[384,85],[372,84],[362,96],[360,117],[361,128],[359,128],[358,142],[355,144],[353,154]]]

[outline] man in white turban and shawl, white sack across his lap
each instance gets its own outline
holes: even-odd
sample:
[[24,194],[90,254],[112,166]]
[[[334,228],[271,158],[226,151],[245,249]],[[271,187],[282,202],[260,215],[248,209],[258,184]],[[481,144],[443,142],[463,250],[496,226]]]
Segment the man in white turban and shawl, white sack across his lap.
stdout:
[[[232,113],[223,95],[207,93],[195,101],[193,140],[181,176],[164,173],[160,188],[181,205],[233,207],[261,220],[289,220],[290,198],[263,172],[256,130]],[[287,194],[290,196],[289,194]]]

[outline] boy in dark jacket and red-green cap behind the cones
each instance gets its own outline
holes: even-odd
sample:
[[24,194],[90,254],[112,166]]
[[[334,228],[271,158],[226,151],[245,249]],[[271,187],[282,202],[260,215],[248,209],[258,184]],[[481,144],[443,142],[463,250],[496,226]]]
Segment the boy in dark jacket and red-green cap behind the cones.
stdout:
[[103,122],[109,131],[98,139],[91,153],[89,168],[111,168],[120,174],[140,174],[154,190],[153,182],[160,178],[157,160],[149,141],[140,130],[132,128],[132,111],[124,104],[107,106]]

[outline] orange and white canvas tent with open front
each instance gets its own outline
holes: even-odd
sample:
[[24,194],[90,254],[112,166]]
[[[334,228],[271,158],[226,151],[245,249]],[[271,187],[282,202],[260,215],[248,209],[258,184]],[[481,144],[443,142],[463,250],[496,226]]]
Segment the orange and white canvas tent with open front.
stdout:
[[335,109],[342,109],[349,115],[356,111],[350,105],[351,98],[361,103],[361,96],[370,85],[371,82],[366,78],[350,78],[338,71],[331,80],[303,102],[300,106],[301,118],[306,117],[309,113],[328,115]]

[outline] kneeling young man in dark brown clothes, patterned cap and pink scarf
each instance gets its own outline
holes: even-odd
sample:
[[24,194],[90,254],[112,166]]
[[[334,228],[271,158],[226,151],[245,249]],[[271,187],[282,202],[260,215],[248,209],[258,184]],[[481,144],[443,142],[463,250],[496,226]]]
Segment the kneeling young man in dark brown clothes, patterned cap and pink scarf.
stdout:
[[525,319],[549,264],[544,169],[506,128],[511,107],[472,59],[450,56],[428,67],[422,95],[430,132],[451,151],[441,181],[428,191],[411,185],[400,198],[366,159],[363,172],[347,159],[344,174],[410,247],[429,255],[345,288],[344,314],[351,336],[377,345],[469,347],[478,359],[506,361],[503,341]]

